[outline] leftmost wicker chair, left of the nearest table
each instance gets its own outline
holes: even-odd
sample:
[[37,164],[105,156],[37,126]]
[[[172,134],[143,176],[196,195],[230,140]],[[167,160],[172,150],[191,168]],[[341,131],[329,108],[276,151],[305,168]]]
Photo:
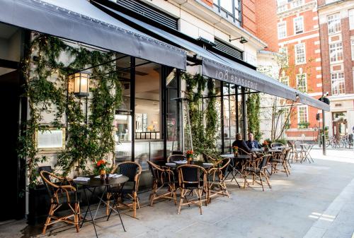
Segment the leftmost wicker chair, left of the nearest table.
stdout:
[[[79,232],[79,221],[81,218],[79,198],[77,196],[76,187],[72,186],[70,179],[68,180],[66,178],[59,177],[46,170],[40,170],[40,177],[42,178],[42,182],[45,184],[45,188],[47,189],[50,197],[50,210],[42,233],[45,234],[47,227],[57,222],[65,222],[75,225],[76,232]],[[58,182],[54,183],[55,180]],[[64,204],[67,204],[71,214],[62,217],[54,215],[54,213]]]

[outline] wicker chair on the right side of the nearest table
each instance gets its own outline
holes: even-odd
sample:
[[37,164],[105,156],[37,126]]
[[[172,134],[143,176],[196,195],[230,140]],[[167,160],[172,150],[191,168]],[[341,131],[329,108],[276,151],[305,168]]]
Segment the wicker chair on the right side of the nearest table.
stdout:
[[[118,206],[127,206],[128,208],[132,208],[132,217],[136,218],[137,208],[140,208],[137,191],[139,188],[139,176],[142,174],[142,167],[137,162],[121,162],[115,166],[111,173],[116,172],[116,170],[118,170],[119,174],[127,176],[129,180],[122,185],[122,188],[113,188],[111,189],[112,193],[107,193],[107,214],[110,209],[110,198],[113,194],[117,194]],[[124,203],[125,198],[130,199],[132,202]]]

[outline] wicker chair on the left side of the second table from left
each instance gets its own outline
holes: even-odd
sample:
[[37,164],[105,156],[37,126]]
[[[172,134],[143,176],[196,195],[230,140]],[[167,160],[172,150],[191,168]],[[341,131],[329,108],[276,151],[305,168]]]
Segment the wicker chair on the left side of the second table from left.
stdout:
[[[150,194],[150,206],[153,206],[154,201],[160,198],[173,199],[177,205],[175,175],[171,169],[166,169],[155,165],[153,162],[147,160],[150,171],[152,172],[153,184],[152,192]],[[158,194],[161,189],[167,188],[164,194]]]

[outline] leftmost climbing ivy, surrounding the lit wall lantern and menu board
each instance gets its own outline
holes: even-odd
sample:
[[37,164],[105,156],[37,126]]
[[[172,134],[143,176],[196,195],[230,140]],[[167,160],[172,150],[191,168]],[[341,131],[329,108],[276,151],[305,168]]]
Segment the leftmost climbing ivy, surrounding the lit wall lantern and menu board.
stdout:
[[[113,119],[122,98],[113,60],[115,53],[77,48],[49,35],[34,37],[29,52],[23,62],[29,119],[22,125],[24,133],[18,139],[18,155],[27,160],[30,185],[38,180],[38,165],[48,160],[36,148],[35,133],[50,127],[62,128],[64,118],[67,144],[57,154],[56,168],[64,175],[73,169],[85,174],[89,172],[89,162],[114,153]],[[92,68],[92,98],[91,113],[86,118],[81,108],[86,100],[78,99],[67,85],[72,73],[88,68]],[[45,114],[54,116],[49,125],[41,124]]]

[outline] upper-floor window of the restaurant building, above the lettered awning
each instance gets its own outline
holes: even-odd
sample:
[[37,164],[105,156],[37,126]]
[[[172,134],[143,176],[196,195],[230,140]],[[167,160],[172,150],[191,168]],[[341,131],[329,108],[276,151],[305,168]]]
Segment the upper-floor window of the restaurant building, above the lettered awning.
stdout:
[[214,5],[222,16],[241,25],[241,0],[217,0],[214,1]]

